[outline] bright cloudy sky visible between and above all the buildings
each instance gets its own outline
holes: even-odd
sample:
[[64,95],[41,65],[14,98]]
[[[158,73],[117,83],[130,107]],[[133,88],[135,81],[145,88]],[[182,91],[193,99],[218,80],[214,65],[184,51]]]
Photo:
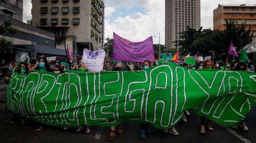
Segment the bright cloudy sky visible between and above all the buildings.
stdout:
[[[171,1],[171,0],[170,0]],[[23,21],[31,19],[31,0],[23,0]],[[165,44],[165,0],[104,0],[105,38],[113,32],[133,42],[158,36]],[[213,28],[213,9],[218,4],[256,4],[255,0],[201,0],[201,26]],[[153,38],[158,44],[158,38]]]

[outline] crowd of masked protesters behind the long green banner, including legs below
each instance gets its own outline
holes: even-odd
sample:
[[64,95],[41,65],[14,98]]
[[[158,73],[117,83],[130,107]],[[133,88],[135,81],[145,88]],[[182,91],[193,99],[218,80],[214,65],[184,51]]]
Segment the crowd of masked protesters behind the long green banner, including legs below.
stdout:
[[[164,62],[166,63],[166,61]],[[14,67],[17,65],[17,62],[8,62],[5,63],[5,60],[2,59],[1,66],[0,66],[0,79],[4,78],[5,82],[8,84],[10,81],[10,75],[13,71]],[[151,62],[151,61],[144,61],[144,62],[121,62],[116,61],[114,59],[110,61],[104,61],[104,67],[102,71],[133,71],[133,72],[140,72],[141,70],[148,70],[154,65],[159,64],[159,62]],[[223,70],[223,71],[229,71],[229,70],[240,70],[240,71],[247,71],[247,72],[255,72],[255,65],[252,61],[249,61],[247,63],[245,62],[238,62],[235,60],[232,60],[229,62],[229,59],[226,59],[226,61],[215,61],[212,62],[211,60],[205,60],[205,61],[196,61],[196,64],[189,65],[186,64],[186,58],[182,58],[182,60],[177,63],[181,66],[191,68],[193,70],[199,69],[199,70]],[[18,68],[16,68],[16,71],[21,75],[27,75],[30,72],[33,72],[35,70],[40,71],[48,71],[48,72],[54,72],[58,74],[65,75],[66,70],[79,70],[79,71],[88,71],[87,65],[82,62],[82,57],[78,57],[76,61],[47,61],[45,57],[41,57],[39,59],[32,59],[30,62],[20,62],[18,65]],[[10,120],[10,122],[20,121],[22,125],[26,124],[25,119],[23,117],[18,117],[15,113],[12,113],[13,118]],[[187,122],[186,116],[190,116],[189,111],[185,111],[185,115],[182,118],[182,122]],[[247,117],[246,117],[247,118]],[[246,118],[243,122],[241,122],[240,128],[242,128],[244,131],[249,130],[246,125]],[[108,134],[108,139],[113,140],[115,139],[116,135],[123,136],[123,125],[118,125],[117,128],[115,126],[110,127],[110,131]],[[37,127],[35,130],[41,130],[43,126],[41,124],[37,124]],[[201,116],[201,129],[200,133],[202,135],[205,134],[205,128],[207,128],[210,131],[213,131],[213,127],[211,125],[211,122],[209,119],[205,118],[204,116]],[[68,127],[63,127],[63,130],[67,130]],[[117,130],[117,131],[116,131]],[[79,127],[76,131],[85,131],[85,133],[90,133],[90,127]],[[179,132],[176,130],[175,127],[172,127],[169,130],[163,130],[164,133],[171,133],[172,135],[179,135]],[[141,133],[140,138],[146,139],[146,134],[150,134],[150,125],[149,124],[141,124]]]

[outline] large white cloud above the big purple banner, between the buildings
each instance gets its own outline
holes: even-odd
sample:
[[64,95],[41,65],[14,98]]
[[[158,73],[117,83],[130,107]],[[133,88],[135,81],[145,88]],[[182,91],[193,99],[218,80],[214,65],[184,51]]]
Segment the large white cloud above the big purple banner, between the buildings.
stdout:
[[[113,32],[133,42],[143,41],[149,36],[160,32],[160,42],[165,43],[165,1],[112,1],[115,7],[143,7],[146,14],[130,13],[124,17],[118,16],[114,21],[105,21],[105,38],[113,38]],[[127,5],[125,5],[127,4]],[[138,5],[140,4],[140,5]],[[158,43],[158,38],[153,38]]]

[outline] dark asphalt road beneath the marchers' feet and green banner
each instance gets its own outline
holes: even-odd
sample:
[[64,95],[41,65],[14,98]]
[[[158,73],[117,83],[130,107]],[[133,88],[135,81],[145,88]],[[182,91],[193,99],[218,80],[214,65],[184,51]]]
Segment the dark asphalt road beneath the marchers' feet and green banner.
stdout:
[[[42,130],[35,131],[33,123],[19,127],[18,123],[9,123],[11,117],[7,113],[5,119],[5,91],[0,91],[0,142],[108,142],[108,127],[91,127],[91,133],[77,133],[75,129],[62,130],[59,127],[44,126]],[[124,136],[116,136],[113,142],[256,142],[256,105],[249,113],[247,125],[249,131],[222,127],[212,123],[214,131],[206,131],[204,136],[199,135],[200,119],[191,113],[188,122],[176,125],[179,136],[164,135],[161,130],[151,127],[151,135],[141,141],[140,124],[127,122],[124,124]],[[98,139],[96,139],[98,137]]]

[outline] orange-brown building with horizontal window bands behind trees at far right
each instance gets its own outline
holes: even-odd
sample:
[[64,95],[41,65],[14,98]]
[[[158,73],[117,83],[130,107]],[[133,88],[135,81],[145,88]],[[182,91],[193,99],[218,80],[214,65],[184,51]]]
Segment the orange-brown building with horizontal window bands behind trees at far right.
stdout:
[[256,32],[256,6],[249,4],[219,4],[213,10],[213,30],[226,29],[226,19],[233,19],[238,26],[246,24],[246,30]]

